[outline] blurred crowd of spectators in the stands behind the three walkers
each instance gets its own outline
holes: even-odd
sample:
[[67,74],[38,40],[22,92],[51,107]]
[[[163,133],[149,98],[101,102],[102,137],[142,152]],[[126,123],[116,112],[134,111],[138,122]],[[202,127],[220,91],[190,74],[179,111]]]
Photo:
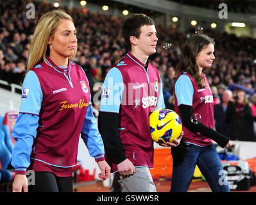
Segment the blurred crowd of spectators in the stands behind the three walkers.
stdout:
[[[35,25],[42,13],[53,9],[48,3],[36,2],[35,5],[35,19],[27,19],[26,1],[0,2],[0,79],[8,83],[21,85]],[[76,8],[65,10],[73,17],[78,31],[78,52],[74,61],[87,73],[93,96],[98,92],[97,88],[93,90],[95,83],[103,82],[107,70],[127,52],[121,35],[123,19]],[[194,28],[181,33],[172,26],[157,25],[157,32],[157,53],[149,61],[160,72],[166,107],[173,109],[175,67],[184,42],[193,35]],[[233,140],[256,141],[256,131],[253,131],[256,127],[253,126],[256,124],[256,64],[253,62],[256,40],[214,30],[204,32],[216,41],[216,60],[206,71],[214,93],[216,129]],[[163,48],[166,42],[171,42],[170,49]]]

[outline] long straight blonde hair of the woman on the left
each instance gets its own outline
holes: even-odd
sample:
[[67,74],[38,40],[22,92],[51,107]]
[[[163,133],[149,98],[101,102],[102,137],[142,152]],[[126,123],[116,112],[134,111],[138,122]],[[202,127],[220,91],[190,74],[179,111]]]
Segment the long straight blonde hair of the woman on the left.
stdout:
[[[40,61],[46,61],[46,54],[49,54],[49,38],[53,37],[61,20],[74,20],[72,17],[62,10],[53,10],[47,12],[37,23],[33,39],[30,45],[28,56],[27,72],[30,71]],[[71,57],[71,60],[76,56],[76,51]]]

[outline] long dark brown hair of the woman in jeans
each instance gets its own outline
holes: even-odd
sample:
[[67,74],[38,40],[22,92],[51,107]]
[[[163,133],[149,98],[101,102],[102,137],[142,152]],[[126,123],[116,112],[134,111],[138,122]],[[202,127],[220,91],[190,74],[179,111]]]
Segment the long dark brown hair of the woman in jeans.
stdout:
[[198,87],[205,88],[205,80],[199,74],[196,56],[209,44],[215,44],[212,38],[202,34],[192,35],[192,37],[185,42],[182,58],[180,58],[175,68],[175,76],[178,77],[182,72],[187,72],[196,80]]

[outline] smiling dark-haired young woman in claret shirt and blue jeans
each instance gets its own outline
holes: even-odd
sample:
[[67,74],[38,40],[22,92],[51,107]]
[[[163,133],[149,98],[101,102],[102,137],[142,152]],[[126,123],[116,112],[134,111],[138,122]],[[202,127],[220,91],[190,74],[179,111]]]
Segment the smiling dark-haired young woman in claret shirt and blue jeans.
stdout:
[[213,97],[203,69],[214,61],[214,40],[196,34],[187,40],[176,67],[175,111],[182,118],[183,138],[173,147],[171,192],[187,192],[196,165],[212,192],[230,192],[212,140],[230,147],[228,138],[214,131]]

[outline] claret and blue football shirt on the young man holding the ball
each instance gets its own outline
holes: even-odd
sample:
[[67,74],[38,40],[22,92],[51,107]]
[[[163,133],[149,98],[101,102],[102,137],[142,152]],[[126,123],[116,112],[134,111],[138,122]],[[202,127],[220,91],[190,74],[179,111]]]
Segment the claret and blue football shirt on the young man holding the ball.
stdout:
[[[165,105],[157,68],[128,52],[107,73],[99,111],[119,113],[119,137],[126,157],[137,167],[153,167],[149,114],[161,108]],[[112,172],[117,171],[114,160],[107,160]]]

